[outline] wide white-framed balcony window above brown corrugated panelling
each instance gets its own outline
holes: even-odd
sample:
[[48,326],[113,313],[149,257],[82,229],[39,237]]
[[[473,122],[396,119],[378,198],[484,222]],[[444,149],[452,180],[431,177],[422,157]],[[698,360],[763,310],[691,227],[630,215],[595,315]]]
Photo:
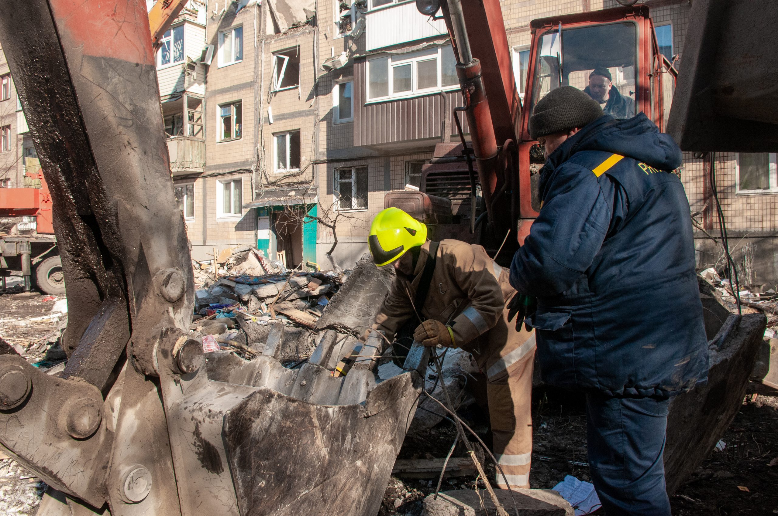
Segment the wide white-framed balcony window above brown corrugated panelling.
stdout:
[[[426,49],[422,49],[420,51],[406,52],[405,54],[381,54],[375,58],[368,59],[366,61],[367,66],[365,71],[366,96],[367,96],[365,104],[387,102],[387,101],[398,100],[398,99],[414,99],[420,96],[433,95],[435,93],[440,93],[440,92],[456,91],[457,89],[460,89],[460,85],[458,81],[454,82],[454,84],[451,85],[443,85],[443,47],[447,47],[447,46],[449,45],[447,44],[436,45],[436,50],[437,50],[436,54],[423,55],[422,52],[429,51],[429,49],[432,48],[432,47],[427,47]],[[407,54],[417,54],[417,55],[415,57],[402,58],[402,56]],[[388,58],[387,61],[388,93],[385,96],[371,98],[370,97],[370,67],[373,65],[373,62],[385,58]],[[419,62],[429,61],[432,59],[437,59],[437,85],[429,88],[419,89],[418,88]],[[454,59],[456,59],[456,54],[454,54]],[[394,73],[392,71],[393,68],[397,68],[398,66],[402,66],[405,64],[411,64],[411,90],[408,92],[399,92],[395,94],[394,93]]]

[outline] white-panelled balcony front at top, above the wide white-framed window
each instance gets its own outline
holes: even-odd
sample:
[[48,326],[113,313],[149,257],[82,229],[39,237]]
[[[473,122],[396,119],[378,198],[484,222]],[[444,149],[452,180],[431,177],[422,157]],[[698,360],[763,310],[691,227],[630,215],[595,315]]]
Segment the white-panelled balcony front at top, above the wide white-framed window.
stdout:
[[429,20],[416,10],[416,2],[402,2],[373,9],[365,14],[368,51],[447,34],[442,19]]

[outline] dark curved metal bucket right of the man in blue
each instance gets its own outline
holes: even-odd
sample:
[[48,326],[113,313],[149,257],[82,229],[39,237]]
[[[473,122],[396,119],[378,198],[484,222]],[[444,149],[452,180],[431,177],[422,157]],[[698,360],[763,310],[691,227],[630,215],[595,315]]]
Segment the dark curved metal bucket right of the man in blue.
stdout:
[[731,315],[708,343],[708,381],[668,406],[664,476],[669,494],[696,471],[740,410],[767,318]]

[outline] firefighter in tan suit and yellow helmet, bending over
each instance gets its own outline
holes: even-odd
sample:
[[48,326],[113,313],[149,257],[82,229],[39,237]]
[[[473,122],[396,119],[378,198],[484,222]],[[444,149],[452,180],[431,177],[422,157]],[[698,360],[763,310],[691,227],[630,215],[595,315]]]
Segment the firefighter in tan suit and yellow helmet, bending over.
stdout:
[[508,324],[506,300],[515,291],[482,246],[426,237],[426,225],[396,207],[373,219],[373,261],[397,272],[373,328],[393,340],[410,319],[417,342],[473,355],[487,378],[494,453],[508,481],[498,471],[497,484],[528,488],[534,333]]

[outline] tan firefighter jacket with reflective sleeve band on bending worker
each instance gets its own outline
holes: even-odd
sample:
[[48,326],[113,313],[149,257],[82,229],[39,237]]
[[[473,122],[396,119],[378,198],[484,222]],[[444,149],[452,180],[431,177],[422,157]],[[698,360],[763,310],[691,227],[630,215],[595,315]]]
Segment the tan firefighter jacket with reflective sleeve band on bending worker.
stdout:
[[[409,318],[418,320],[412,301],[429,257],[429,243],[419,253],[413,281],[396,277],[378,310],[373,327],[384,330],[389,340]],[[473,354],[478,367],[492,380],[534,349],[534,334],[517,332],[515,321],[507,322],[506,303],[514,293],[508,270],[494,263],[482,246],[442,240],[429,293],[419,312],[422,319],[450,326],[457,347]]]

